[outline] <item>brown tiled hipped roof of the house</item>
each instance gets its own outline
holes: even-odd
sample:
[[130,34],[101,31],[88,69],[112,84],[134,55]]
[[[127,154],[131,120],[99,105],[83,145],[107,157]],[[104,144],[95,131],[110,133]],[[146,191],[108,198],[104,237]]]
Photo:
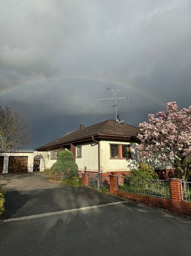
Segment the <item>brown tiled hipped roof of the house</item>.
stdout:
[[129,124],[125,123],[116,123],[114,120],[108,120],[102,123],[94,124],[93,126],[89,126],[82,130],[76,130],[73,133],[40,146],[36,150],[43,150],[49,147],[56,147],[72,142],[75,143],[75,141],[88,139],[91,138],[91,136],[115,136],[118,138],[129,138],[132,136],[137,136],[139,132],[140,130],[138,127],[130,126]]

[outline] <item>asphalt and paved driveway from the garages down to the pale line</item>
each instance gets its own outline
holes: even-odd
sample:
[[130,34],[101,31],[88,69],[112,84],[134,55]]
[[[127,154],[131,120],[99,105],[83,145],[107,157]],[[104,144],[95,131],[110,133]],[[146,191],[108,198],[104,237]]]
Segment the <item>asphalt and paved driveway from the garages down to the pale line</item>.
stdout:
[[123,201],[87,187],[50,182],[40,173],[1,175],[0,185],[7,190],[1,219]]

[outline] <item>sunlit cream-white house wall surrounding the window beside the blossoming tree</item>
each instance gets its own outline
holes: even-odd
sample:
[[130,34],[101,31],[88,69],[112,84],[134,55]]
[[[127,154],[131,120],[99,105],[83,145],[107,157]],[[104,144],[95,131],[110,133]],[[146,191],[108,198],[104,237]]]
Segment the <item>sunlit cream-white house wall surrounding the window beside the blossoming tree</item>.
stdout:
[[126,142],[116,142],[116,141],[100,141],[100,161],[101,161],[101,170],[103,173],[118,171],[124,172],[129,171],[132,168],[135,168],[138,163],[136,162],[136,150],[135,147],[131,147],[132,159],[110,159],[110,144],[123,144],[123,145],[137,145],[135,143],[126,143]]

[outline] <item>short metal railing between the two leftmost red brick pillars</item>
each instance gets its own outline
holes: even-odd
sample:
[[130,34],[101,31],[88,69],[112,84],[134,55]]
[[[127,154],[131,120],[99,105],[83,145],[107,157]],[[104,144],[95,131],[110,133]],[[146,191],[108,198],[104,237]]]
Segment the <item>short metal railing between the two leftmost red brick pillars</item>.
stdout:
[[88,174],[89,186],[97,189],[110,190],[109,175]]

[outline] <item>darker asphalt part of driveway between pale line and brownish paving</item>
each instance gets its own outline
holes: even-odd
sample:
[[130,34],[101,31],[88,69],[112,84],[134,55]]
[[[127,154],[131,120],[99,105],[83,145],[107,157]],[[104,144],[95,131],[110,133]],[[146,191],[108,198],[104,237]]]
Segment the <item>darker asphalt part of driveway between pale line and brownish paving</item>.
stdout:
[[5,211],[1,219],[57,212],[123,201],[86,187],[63,186],[38,190],[9,190],[5,194]]

